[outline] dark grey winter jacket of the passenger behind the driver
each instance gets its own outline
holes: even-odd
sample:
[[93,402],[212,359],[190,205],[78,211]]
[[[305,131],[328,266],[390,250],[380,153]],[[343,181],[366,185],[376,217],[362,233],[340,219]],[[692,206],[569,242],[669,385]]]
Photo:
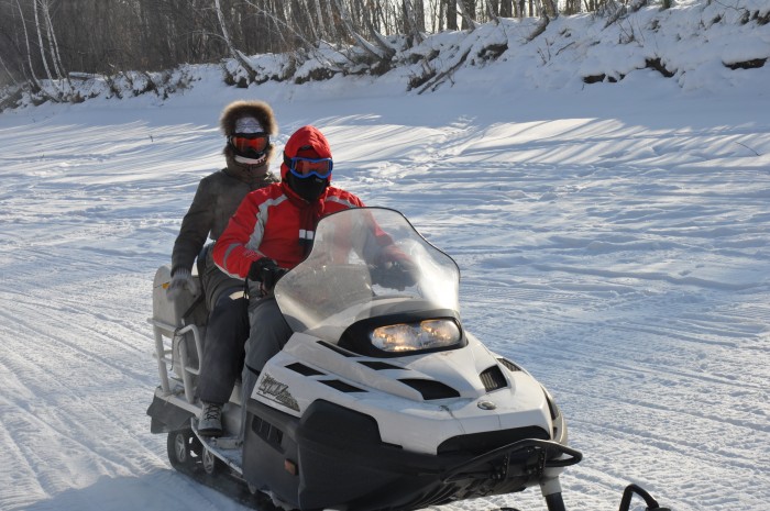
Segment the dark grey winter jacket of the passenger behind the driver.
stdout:
[[[278,179],[272,173],[262,176],[250,174],[252,169],[238,164],[228,156],[228,167],[206,176],[200,180],[193,203],[182,220],[179,235],[172,253],[172,275],[178,268],[193,268],[196,257],[208,238],[216,241],[228,226],[230,216],[241,204],[243,198],[252,190],[266,187]],[[264,169],[261,169],[264,171]],[[242,281],[221,273],[207,257],[206,270],[201,282],[206,291],[209,310],[215,303],[216,295],[226,288],[243,286]]]

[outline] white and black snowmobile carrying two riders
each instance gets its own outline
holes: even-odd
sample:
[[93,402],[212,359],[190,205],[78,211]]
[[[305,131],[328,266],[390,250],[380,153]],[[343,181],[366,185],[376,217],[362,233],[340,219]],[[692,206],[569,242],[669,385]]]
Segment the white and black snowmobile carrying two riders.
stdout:
[[[383,238],[400,260],[383,263]],[[464,330],[458,265],[399,212],[319,222],[308,257],[274,289],[295,333],[246,402],[237,386],[221,437],[196,429],[205,307],[197,296],[169,301],[169,280],[164,265],[150,320],[161,384],[147,414],[174,468],[260,509],[414,510],[539,486],[548,510],[564,511],[559,476],[582,454],[568,446],[562,412]],[[622,509],[632,493],[649,497],[626,493]]]

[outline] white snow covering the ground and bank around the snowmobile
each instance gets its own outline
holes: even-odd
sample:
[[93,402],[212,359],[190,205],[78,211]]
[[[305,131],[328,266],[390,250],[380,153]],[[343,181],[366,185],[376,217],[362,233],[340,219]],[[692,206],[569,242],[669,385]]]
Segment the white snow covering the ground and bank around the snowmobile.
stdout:
[[[676,511],[767,509],[770,64],[723,63],[770,56],[770,24],[744,8],[770,10],[441,34],[424,49],[509,47],[421,95],[407,68],[238,89],[201,66],[166,100],[0,114],[0,509],[244,509],[174,471],[145,414],[152,278],[241,98],[274,107],[278,146],[321,127],[337,185],[458,260],[465,326],[549,388],[584,453],[568,509],[616,509],[628,482]],[[629,26],[636,44],[607,46]],[[651,53],[672,78],[638,69]],[[546,509],[531,489],[441,510],[501,507]]]

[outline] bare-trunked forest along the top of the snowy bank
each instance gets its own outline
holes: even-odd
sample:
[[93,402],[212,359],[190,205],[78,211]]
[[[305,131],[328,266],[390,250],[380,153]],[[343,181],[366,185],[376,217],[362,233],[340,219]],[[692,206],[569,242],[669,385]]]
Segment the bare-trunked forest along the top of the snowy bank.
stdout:
[[[670,7],[662,0],[661,8]],[[648,0],[0,0],[0,92],[44,91],[74,101],[66,82],[162,71],[324,44],[361,48],[367,73],[385,73],[397,49],[428,34],[472,32],[501,18],[549,20],[581,12],[618,15]],[[534,36],[536,36],[534,34]],[[53,89],[42,82],[62,84]]]

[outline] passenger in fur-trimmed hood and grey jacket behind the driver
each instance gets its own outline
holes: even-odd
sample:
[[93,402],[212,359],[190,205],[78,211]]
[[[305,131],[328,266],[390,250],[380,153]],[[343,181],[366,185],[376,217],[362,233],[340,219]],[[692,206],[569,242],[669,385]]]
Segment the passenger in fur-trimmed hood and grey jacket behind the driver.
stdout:
[[271,135],[277,132],[273,110],[262,101],[235,101],[222,111],[220,127],[227,136],[227,167],[200,180],[193,203],[182,221],[172,253],[172,281],[168,297],[183,290],[195,293],[193,264],[198,258],[199,281],[209,311],[204,343],[204,359],[198,377],[197,396],[202,403],[198,431],[209,436],[222,434],[222,406],[232,393],[241,374],[249,338],[249,300],[243,280],[229,277],[215,265],[210,238],[216,241],[243,198],[257,188],[277,182],[268,169],[273,157]]

